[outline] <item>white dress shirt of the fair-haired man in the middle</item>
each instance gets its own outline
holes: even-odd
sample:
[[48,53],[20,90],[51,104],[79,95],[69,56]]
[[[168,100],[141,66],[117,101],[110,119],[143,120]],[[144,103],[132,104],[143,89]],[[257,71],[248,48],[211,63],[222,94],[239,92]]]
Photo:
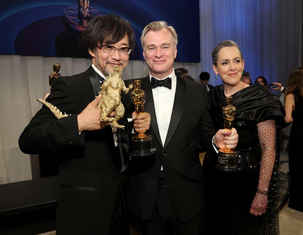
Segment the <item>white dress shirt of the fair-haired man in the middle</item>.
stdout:
[[[154,76],[149,73],[149,80],[151,80],[151,77]],[[155,87],[152,89],[152,95],[154,98],[155,112],[162,146],[164,146],[165,143],[169,123],[171,120],[171,112],[174,106],[177,86],[177,77],[175,75],[175,70],[172,69],[171,74],[169,74],[167,77],[171,78],[171,89],[168,89],[167,87]],[[161,80],[157,77],[154,78],[157,80]],[[162,166],[161,170],[163,170]]]

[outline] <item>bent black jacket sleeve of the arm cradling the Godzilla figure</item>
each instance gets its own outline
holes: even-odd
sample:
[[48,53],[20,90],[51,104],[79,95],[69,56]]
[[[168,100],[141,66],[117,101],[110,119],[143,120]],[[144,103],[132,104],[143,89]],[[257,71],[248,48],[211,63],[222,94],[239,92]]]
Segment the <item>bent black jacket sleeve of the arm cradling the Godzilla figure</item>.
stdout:
[[43,105],[35,114],[19,138],[19,147],[26,154],[84,145],[84,135],[79,135],[76,96],[74,88],[66,77],[58,78],[52,85],[52,92],[46,99],[61,112],[71,116],[56,119]]

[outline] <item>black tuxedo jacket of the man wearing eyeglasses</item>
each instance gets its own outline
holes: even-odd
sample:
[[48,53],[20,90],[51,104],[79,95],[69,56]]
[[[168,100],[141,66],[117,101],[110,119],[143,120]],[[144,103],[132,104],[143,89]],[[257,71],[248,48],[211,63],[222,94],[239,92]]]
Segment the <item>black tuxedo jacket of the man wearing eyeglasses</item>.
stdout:
[[46,101],[71,116],[57,120],[43,106],[19,138],[19,147],[27,154],[59,150],[57,234],[107,234],[117,181],[124,205],[127,205],[128,185],[123,171],[128,165],[128,156],[123,148],[125,144],[121,142],[124,133],[118,131],[122,162],[119,169],[113,160],[120,156],[111,155],[110,151],[112,146],[109,145],[114,146],[111,130],[78,133],[77,116],[98,95],[99,87],[98,74],[92,67],[84,73],[56,79]]

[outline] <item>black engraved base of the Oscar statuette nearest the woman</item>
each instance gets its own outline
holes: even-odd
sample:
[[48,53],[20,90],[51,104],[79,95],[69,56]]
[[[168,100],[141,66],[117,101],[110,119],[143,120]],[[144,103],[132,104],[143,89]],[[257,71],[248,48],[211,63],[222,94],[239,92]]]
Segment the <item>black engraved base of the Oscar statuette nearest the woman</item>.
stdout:
[[238,164],[238,151],[234,149],[219,149],[217,163],[214,167],[222,172],[239,172],[242,170]]

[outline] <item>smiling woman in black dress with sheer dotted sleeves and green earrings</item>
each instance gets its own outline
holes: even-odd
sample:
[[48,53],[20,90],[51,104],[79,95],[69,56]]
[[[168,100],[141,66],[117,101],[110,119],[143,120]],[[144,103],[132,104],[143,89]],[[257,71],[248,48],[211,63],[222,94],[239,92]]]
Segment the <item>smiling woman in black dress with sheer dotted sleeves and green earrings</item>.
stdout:
[[[223,85],[209,92],[215,126],[223,128],[222,107],[233,97],[233,127],[239,141],[241,172],[220,172],[213,165],[217,155],[207,153],[203,174],[209,205],[211,234],[278,234],[276,121],[285,116],[281,102],[259,84],[240,81],[244,60],[233,41],[221,42],[212,52],[213,69]],[[228,137],[226,140],[228,141]]]

